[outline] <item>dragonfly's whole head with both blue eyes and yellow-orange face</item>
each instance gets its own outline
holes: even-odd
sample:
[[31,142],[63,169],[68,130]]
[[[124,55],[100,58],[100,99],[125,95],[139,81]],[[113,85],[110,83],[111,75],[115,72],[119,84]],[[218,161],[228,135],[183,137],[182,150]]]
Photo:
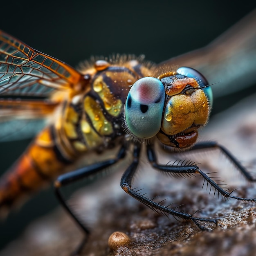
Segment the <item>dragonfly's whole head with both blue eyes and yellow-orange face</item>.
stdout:
[[141,78],[126,99],[128,132],[137,139],[156,135],[164,145],[189,148],[198,138],[198,128],[207,124],[212,99],[207,80],[190,67]]

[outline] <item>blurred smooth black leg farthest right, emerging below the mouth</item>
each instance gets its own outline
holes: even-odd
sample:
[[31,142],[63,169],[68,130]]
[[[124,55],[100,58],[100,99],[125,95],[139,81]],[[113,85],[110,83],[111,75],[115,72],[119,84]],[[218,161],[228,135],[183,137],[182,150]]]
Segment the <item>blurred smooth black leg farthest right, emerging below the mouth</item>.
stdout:
[[254,177],[252,177],[252,175],[246,170],[246,168],[240,164],[240,162],[238,161],[238,159],[236,159],[236,157],[234,157],[234,155],[232,155],[229,150],[227,150],[227,148],[225,148],[224,146],[218,144],[215,141],[205,141],[205,142],[198,142],[197,144],[195,144],[195,146],[193,146],[193,148],[191,148],[191,150],[196,150],[196,149],[205,149],[205,148],[219,148],[220,151],[231,161],[235,164],[235,166],[238,168],[238,170],[243,173],[243,175],[247,178],[247,180],[249,181],[256,181],[256,179]]

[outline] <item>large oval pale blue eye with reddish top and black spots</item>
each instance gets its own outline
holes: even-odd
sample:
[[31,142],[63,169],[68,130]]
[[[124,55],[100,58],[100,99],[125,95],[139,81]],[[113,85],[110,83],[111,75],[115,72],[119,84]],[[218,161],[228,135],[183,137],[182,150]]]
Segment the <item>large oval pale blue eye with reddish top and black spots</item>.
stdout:
[[133,135],[148,139],[161,128],[165,90],[162,82],[154,77],[136,81],[127,96],[124,114]]

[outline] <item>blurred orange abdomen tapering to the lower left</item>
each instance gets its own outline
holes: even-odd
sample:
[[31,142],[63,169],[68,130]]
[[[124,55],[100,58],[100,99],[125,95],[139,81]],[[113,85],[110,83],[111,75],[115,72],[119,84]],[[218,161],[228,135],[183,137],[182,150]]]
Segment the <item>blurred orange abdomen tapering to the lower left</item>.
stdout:
[[0,180],[0,207],[9,209],[24,195],[37,191],[72,164],[56,146],[52,127],[45,128]]

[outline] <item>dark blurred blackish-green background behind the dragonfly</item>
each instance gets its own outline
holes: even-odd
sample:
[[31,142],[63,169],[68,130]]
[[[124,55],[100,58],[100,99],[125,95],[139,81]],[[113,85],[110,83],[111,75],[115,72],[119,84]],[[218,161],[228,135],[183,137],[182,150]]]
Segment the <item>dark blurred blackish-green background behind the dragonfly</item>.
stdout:
[[[158,63],[207,45],[255,7],[253,1],[225,0],[5,1],[0,28],[74,67],[92,55],[112,53],[145,54]],[[0,143],[0,173],[28,143]],[[57,204],[51,190],[43,191],[11,213],[0,223],[0,248]]]

